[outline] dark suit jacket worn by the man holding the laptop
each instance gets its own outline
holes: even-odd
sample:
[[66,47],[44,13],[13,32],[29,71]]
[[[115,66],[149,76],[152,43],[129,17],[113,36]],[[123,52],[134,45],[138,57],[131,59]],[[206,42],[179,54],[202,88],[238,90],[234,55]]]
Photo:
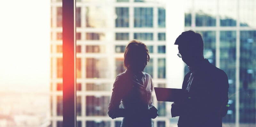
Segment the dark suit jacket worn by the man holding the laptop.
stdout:
[[180,116],[179,127],[221,127],[228,111],[228,77],[207,59],[193,69],[182,84],[188,96],[172,104],[172,117]]

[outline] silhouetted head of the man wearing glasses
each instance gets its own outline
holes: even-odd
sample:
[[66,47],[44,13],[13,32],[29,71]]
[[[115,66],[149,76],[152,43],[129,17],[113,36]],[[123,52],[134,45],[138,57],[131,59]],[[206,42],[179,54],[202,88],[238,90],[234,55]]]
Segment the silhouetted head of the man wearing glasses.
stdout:
[[188,66],[194,66],[198,60],[204,59],[204,43],[199,33],[191,30],[182,32],[174,45],[178,45],[182,60]]

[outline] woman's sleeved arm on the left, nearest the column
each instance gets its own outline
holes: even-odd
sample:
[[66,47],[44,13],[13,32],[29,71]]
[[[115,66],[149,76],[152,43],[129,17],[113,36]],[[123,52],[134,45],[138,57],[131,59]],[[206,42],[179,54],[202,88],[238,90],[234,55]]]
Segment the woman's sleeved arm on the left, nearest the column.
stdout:
[[116,81],[113,84],[113,91],[108,105],[108,116],[112,119],[126,116],[126,110],[119,108],[121,99],[124,96],[124,84],[122,83],[123,81],[121,80],[120,76],[117,76]]

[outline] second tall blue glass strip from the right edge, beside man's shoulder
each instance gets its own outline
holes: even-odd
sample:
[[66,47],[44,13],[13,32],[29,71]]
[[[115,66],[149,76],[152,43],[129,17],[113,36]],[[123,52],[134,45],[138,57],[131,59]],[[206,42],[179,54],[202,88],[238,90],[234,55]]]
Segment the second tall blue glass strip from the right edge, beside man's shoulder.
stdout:
[[[228,94],[236,94],[236,31],[220,31],[220,69],[228,75]],[[225,123],[234,123],[236,118],[236,97],[229,96],[228,114],[222,118]]]

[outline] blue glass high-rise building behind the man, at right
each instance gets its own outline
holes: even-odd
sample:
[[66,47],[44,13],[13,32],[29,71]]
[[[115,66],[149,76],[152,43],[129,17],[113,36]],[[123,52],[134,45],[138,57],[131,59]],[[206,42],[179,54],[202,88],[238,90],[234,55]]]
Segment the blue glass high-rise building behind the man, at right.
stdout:
[[186,0],[185,30],[201,33],[204,57],[228,75],[230,107],[222,121],[236,127],[256,120],[255,6],[255,0]]

